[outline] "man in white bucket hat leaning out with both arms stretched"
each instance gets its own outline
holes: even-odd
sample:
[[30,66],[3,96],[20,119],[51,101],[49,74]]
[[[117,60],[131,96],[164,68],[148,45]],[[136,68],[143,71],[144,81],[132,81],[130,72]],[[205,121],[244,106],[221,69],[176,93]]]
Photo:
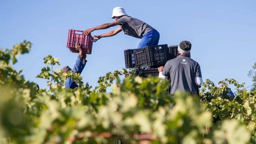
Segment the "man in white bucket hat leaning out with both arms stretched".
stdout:
[[94,42],[100,38],[111,37],[123,31],[126,35],[141,39],[138,48],[158,45],[160,34],[157,30],[141,20],[128,16],[122,7],[115,7],[111,18],[115,19],[115,21],[87,29],[83,33],[88,35],[94,30],[107,29],[120,25],[116,30],[110,31],[106,34],[93,36]]

